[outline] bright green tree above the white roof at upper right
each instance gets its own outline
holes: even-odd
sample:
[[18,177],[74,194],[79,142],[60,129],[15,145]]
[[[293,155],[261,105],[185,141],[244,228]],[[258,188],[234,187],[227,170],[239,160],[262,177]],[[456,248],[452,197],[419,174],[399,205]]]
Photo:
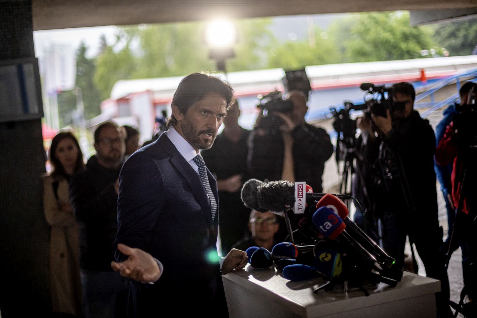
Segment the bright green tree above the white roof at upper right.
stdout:
[[430,29],[411,26],[408,12],[356,14],[331,30],[343,62],[415,59],[434,46]]

